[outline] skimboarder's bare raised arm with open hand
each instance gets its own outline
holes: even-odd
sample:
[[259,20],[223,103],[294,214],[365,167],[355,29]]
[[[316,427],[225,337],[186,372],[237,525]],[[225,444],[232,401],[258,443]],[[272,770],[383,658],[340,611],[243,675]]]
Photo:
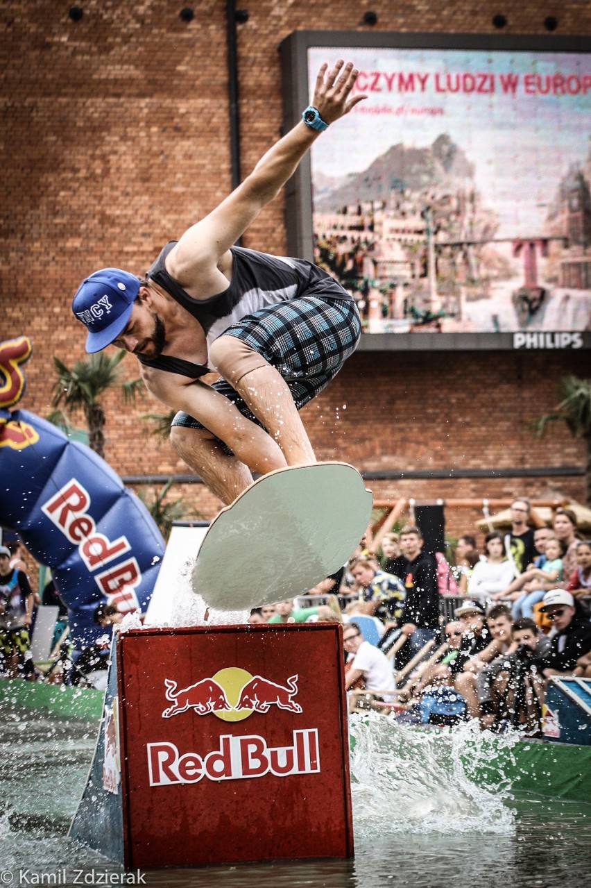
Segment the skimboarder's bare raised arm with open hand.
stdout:
[[[316,78],[312,106],[319,111],[322,120],[335,123],[339,117],[348,114],[352,107],[365,99],[365,95],[350,97],[357,80],[358,71],[351,62],[346,65],[339,60],[327,73],[323,65]],[[229,194],[219,206],[185,231],[177,246],[167,258],[169,273],[185,289],[198,290],[199,279],[204,266],[217,265],[264,205],[279,193],[297,165],[318,139],[319,131],[307,126],[303,121],[296,123],[279,142],[276,142],[256,164],[255,169]],[[211,294],[195,292],[196,297]]]

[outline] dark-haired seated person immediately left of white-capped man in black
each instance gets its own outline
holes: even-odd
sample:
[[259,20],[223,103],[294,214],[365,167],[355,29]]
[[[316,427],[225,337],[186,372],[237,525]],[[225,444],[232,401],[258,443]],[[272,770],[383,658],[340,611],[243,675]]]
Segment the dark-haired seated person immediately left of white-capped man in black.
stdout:
[[511,644],[505,654],[500,654],[477,674],[477,700],[480,726],[483,730],[500,726],[506,714],[507,692],[516,691],[510,687],[521,680],[518,666],[524,664],[529,669],[533,656],[543,656],[550,648],[550,640],[540,633],[533,620],[522,617],[511,626]]

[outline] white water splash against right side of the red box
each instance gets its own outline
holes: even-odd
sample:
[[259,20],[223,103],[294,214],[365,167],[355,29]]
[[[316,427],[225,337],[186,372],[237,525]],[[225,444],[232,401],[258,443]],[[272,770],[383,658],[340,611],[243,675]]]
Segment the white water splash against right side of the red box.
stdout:
[[376,824],[390,833],[495,833],[511,836],[508,781],[475,781],[516,737],[481,733],[477,723],[421,731],[376,713],[351,716],[351,795],[355,836]]

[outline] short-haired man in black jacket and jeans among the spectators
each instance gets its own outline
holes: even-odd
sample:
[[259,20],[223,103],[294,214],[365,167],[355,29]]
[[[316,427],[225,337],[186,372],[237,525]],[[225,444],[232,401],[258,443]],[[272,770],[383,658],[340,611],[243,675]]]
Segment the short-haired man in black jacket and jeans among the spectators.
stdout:
[[[437,591],[437,561],[422,551],[422,532],[406,525],[400,531],[402,555],[388,562],[390,574],[404,583],[406,599],[398,625],[408,638],[403,651],[413,657],[439,628],[439,592]],[[400,665],[400,658],[398,660]]]

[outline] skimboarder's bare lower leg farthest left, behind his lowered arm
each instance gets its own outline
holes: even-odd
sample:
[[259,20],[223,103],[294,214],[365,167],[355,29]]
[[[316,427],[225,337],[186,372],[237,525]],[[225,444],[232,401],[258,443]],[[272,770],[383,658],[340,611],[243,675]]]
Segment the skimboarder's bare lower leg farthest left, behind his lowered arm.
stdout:
[[225,505],[233,503],[252,484],[248,467],[235,456],[228,456],[210,432],[173,425],[170,429],[170,442],[178,456],[201,475],[209,489]]

